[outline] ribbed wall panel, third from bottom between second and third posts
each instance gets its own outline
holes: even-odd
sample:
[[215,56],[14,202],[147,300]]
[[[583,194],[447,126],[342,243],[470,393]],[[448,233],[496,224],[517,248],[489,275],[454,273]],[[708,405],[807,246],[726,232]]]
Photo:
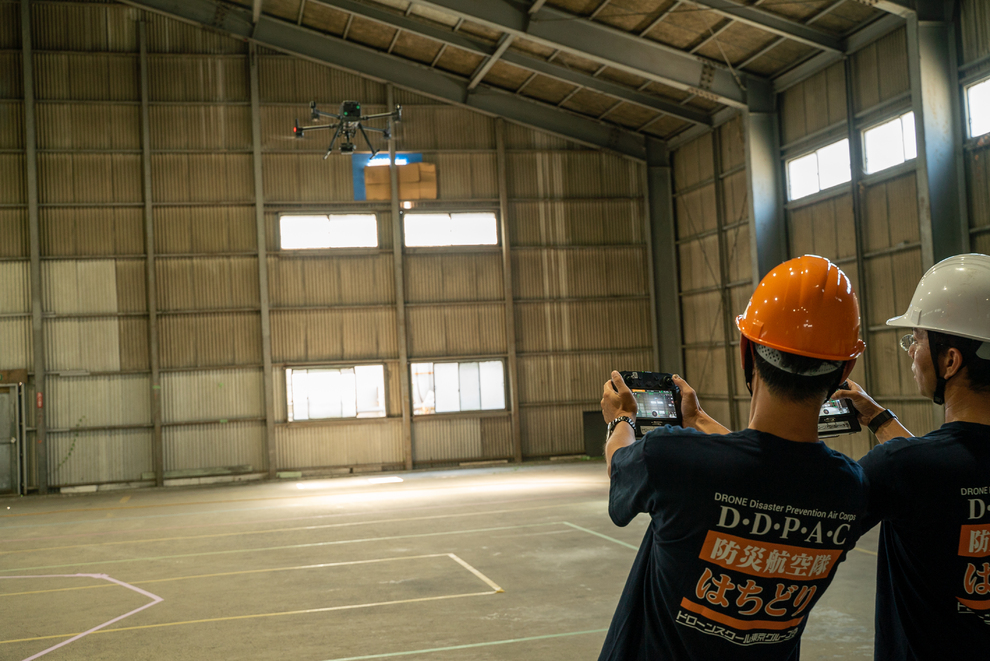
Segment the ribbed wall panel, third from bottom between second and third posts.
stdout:
[[164,315],[158,330],[163,368],[261,363],[257,312]]

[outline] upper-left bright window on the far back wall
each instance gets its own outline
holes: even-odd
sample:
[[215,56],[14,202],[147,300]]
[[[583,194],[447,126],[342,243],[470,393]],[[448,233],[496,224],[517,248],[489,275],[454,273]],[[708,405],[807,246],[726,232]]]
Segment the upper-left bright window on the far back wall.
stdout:
[[378,247],[375,214],[285,214],[279,233],[283,250]]

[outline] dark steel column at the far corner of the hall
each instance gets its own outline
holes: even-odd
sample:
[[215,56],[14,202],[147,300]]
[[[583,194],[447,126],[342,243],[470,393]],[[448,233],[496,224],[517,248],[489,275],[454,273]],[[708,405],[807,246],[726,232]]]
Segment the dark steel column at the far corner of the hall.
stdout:
[[666,145],[654,138],[646,139],[646,195],[653,260],[654,351],[661,371],[683,374],[681,305],[674,277],[678,272],[677,234],[670,154]]

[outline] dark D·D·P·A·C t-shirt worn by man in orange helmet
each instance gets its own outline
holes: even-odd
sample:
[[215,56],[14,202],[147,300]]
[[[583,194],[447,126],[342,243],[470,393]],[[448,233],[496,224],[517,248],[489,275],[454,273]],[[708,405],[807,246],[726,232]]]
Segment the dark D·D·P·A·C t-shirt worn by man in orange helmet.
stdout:
[[668,426],[616,450],[612,521],[652,520],[599,660],[796,661],[866,501],[821,442]]

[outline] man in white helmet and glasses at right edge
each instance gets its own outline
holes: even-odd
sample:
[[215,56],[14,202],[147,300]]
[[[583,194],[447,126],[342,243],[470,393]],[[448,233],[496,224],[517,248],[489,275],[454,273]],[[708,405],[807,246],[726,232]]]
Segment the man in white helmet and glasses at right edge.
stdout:
[[[921,438],[851,383],[880,445],[863,531],[883,521],[874,658],[968,659],[990,650],[990,256],[957,255],[921,279],[901,347],[945,424]],[[977,656],[973,656],[973,654]]]

